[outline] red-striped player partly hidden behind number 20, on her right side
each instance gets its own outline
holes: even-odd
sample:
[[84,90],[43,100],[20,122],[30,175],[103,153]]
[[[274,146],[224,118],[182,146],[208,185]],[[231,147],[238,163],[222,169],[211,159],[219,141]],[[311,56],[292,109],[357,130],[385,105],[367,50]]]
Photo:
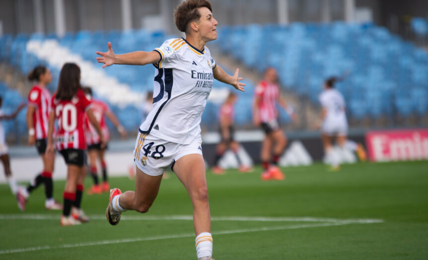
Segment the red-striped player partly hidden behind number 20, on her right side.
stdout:
[[[117,128],[118,132],[122,135],[122,137],[126,137],[127,133],[125,128],[120,124],[117,117],[110,110],[110,107],[102,102],[101,100],[93,99],[92,89],[89,87],[83,88],[83,92],[87,96],[89,100],[92,100],[92,112],[100,124],[101,131],[104,134],[104,139],[108,142],[110,134],[107,127],[107,123],[105,117],[113,123],[113,125]],[[84,117],[84,131],[86,138],[86,145],[89,154],[89,172],[93,178],[94,184],[89,189],[88,194],[101,194],[101,192],[108,192],[110,190],[110,186],[107,181],[107,164],[104,159],[105,151],[107,149],[107,145],[104,148],[101,148],[100,137],[97,134],[96,129],[89,123],[89,119]],[[98,180],[98,169],[97,169],[97,159],[99,159],[101,164],[101,170],[103,174],[103,183],[100,186]]]

